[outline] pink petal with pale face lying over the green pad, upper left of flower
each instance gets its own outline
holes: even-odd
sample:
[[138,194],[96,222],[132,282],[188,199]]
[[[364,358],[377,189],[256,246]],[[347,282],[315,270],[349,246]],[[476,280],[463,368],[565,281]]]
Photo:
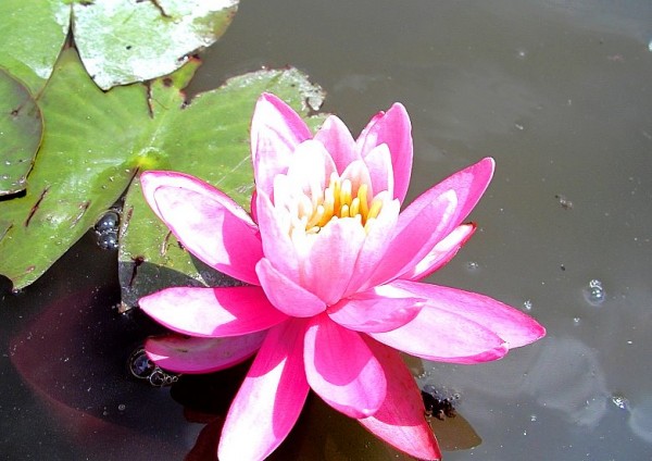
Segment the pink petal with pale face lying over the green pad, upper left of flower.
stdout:
[[258,227],[228,196],[192,176],[145,172],[142,191],[154,212],[192,254],[231,277],[258,285]]

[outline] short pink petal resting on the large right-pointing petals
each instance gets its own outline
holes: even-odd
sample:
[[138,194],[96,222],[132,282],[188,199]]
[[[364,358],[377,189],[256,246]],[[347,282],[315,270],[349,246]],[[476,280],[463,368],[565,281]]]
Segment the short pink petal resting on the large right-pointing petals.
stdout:
[[378,286],[328,308],[328,316],[349,329],[389,332],[412,321],[424,304],[424,299],[404,295],[390,285]]

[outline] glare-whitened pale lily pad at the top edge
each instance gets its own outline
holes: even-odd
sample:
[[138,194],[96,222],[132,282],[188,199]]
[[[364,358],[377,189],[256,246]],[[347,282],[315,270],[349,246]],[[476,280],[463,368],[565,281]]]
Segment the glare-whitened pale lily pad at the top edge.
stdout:
[[230,24],[238,0],[112,0],[73,5],[75,45],[98,86],[148,80],[180,67]]

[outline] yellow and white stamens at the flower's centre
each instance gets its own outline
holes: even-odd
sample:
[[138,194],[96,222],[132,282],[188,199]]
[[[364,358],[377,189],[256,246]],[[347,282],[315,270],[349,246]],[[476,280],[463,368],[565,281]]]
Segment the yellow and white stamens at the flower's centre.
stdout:
[[331,220],[352,217],[368,232],[383,208],[383,197],[377,195],[369,201],[368,189],[363,183],[354,190],[350,179],[342,180],[337,173],[331,173],[324,191],[311,187],[312,197],[303,195],[299,200],[297,214],[301,226],[306,234],[316,234]]

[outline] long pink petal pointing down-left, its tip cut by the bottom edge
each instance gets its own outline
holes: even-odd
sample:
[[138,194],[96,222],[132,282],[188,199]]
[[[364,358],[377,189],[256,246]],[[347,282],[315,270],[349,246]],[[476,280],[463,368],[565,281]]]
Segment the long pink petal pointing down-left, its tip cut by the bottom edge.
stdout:
[[272,328],[226,416],[221,461],[262,460],[286,438],[303,408],[309,386],[303,369],[305,321]]

